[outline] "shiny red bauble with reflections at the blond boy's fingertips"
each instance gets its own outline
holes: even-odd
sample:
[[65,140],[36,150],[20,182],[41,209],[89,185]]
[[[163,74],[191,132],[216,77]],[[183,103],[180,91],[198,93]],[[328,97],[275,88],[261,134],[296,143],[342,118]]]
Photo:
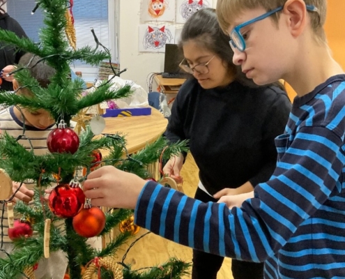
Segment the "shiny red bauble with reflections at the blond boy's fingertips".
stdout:
[[49,195],[49,209],[61,218],[71,218],[77,215],[85,202],[85,195],[79,186],[60,184]]

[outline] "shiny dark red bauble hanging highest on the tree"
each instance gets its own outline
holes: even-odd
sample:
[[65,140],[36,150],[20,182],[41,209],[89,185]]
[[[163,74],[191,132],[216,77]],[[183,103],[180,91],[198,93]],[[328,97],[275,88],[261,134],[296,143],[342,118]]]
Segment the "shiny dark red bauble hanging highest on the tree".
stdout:
[[74,130],[67,128],[61,120],[59,128],[52,130],[47,137],[47,147],[50,152],[75,153],[79,147],[79,137]]

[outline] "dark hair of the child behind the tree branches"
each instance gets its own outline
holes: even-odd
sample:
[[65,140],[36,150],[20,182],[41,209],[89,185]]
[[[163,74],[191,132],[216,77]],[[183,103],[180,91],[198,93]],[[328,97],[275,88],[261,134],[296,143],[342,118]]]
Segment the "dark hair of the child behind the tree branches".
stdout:
[[55,75],[56,70],[48,66],[45,61],[40,61],[40,59],[40,56],[28,52],[20,57],[19,64],[20,66],[28,67],[31,77],[36,78],[41,87],[47,88],[50,84],[50,78]]

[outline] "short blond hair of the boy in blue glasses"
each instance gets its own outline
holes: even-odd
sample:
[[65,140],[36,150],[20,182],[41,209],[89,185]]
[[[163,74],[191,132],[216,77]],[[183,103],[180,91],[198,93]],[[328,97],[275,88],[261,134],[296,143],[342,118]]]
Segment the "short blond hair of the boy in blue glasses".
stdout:
[[[306,5],[315,6],[319,11],[308,13],[312,30],[315,38],[321,43],[325,43],[325,31],[323,25],[325,24],[325,17],[327,12],[326,0],[304,0]],[[232,19],[243,13],[243,10],[264,8],[265,10],[274,10],[275,8],[284,6],[286,0],[217,0],[217,18],[220,22],[220,27],[224,32],[227,32]],[[271,16],[273,22],[277,23],[279,20],[279,13]]]

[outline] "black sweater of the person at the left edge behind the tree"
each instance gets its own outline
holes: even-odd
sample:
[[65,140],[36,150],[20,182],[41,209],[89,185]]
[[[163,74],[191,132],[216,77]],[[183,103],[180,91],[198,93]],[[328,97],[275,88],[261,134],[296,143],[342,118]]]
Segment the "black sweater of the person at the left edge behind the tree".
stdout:
[[[20,38],[27,37],[20,24],[10,17],[8,13],[4,13],[2,15],[0,14],[0,29],[13,31]],[[6,43],[1,42],[0,40],[0,70],[8,65],[17,64],[20,60],[20,57],[22,57],[25,53],[22,51],[16,52],[17,49],[13,45],[6,45],[6,47],[2,48],[3,45],[6,45]],[[3,80],[0,90],[13,90],[12,82],[6,82],[6,80]]]

